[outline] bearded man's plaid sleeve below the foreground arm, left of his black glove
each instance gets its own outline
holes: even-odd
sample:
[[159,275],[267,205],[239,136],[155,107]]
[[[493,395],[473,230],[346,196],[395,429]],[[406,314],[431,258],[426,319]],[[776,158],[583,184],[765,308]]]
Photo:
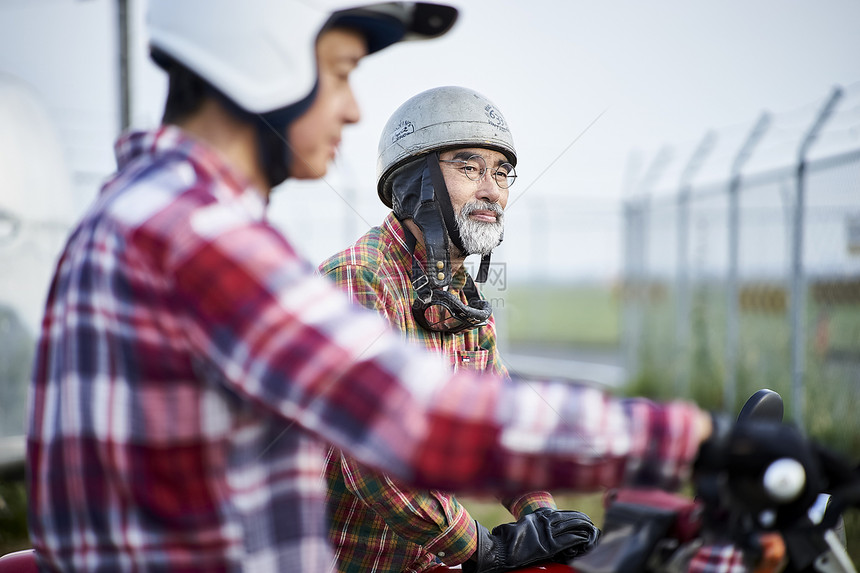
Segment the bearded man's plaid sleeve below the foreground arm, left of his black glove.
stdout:
[[457,498],[415,490],[341,454],[346,487],[403,539],[422,545],[447,565],[466,561],[477,547],[475,522]]

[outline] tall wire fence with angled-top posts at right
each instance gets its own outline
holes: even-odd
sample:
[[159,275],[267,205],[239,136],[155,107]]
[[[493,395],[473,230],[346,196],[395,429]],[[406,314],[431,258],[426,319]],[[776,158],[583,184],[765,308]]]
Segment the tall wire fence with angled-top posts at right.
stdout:
[[737,411],[771,388],[860,452],[860,84],[661,150],[623,217],[634,391]]

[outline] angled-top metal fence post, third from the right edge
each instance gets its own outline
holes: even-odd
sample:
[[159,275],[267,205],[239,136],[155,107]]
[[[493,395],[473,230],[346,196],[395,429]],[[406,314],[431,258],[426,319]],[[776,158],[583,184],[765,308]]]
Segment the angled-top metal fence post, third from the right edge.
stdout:
[[717,141],[717,134],[713,130],[705,133],[705,136],[696,146],[678,183],[678,218],[677,225],[677,277],[676,289],[678,296],[675,301],[675,355],[678,357],[678,368],[675,371],[675,394],[678,396],[690,395],[689,367],[690,367],[690,194],[692,193],[692,180],[699,169],[704,165],[708,154],[713,150]]

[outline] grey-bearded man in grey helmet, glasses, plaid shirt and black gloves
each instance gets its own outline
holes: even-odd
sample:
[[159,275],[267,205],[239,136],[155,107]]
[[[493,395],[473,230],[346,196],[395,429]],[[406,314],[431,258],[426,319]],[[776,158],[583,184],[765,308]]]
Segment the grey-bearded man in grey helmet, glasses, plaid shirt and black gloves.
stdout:
[[[480,254],[478,278],[486,277],[516,163],[507,122],[486,97],[461,87],[416,95],[394,112],[379,142],[377,187],[392,212],[320,271],[454,370],[507,376],[492,309],[463,263]],[[326,478],[342,572],[422,571],[438,561],[480,571],[493,546],[502,546],[508,567],[523,567],[568,561],[597,540],[586,515],[558,511],[545,491],[503,500],[521,519],[506,526],[516,534],[503,543],[454,495],[410,489],[335,448]]]

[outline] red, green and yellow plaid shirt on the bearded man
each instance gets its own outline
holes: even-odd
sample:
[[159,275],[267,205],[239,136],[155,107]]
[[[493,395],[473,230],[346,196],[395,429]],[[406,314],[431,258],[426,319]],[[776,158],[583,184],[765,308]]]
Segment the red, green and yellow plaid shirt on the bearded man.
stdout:
[[[426,254],[421,243],[416,245],[415,257],[423,264]],[[486,326],[456,334],[431,332],[418,325],[410,310],[415,298],[411,270],[403,226],[393,214],[320,265],[320,272],[356,302],[385,316],[404,339],[439,355],[455,370],[507,376],[496,352],[492,317]],[[449,292],[459,293],[467,304],[461,292],[465,282],[461,268]],[[406,488],[334,448],[326,458],[326,481],[339,571],[417,572],[432,567],[437,557],[456,565],[475,552],[474,521],[451,494]],[[547,492],[517,496],[505,505],[517,519],[539,507],[555,508]]]

